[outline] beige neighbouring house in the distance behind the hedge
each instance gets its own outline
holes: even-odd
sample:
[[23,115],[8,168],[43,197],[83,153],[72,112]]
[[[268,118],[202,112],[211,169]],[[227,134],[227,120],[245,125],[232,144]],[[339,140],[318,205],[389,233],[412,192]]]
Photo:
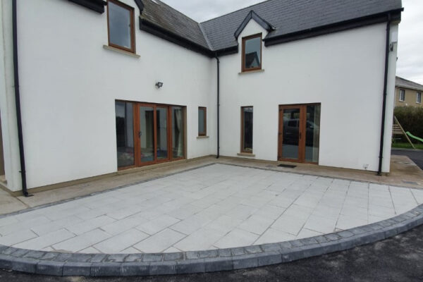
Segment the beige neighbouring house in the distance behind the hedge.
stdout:
[[395,106],[422,107],[423,85],[396,77]]

